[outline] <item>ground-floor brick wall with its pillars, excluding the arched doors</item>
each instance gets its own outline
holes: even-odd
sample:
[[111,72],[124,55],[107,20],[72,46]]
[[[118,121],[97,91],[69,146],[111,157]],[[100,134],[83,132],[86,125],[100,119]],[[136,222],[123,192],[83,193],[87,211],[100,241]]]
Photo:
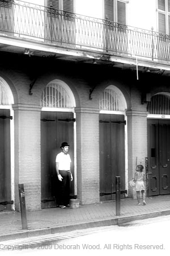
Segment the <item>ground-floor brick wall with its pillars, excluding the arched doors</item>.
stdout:
[[[3,57],[10,60],[6,54]],[[82,204],[99,203],[100,201],[99,100],[101,92],[109,85],[117,86],[122,90],[128,106],[125,110],[128,131],[126,138],[128,142],[128,152],[126,152],[128,171],[124,170],[126,179],[123,181],[128,190],[128,180],[134,175],[135,164],[142,163],[145,166],[145,157],[147,156],[146,104],[141,104],[141,92],[135,88],[138,82],[135,73],[130,74],[131,81],[128,78],[129,73],[126,75],[124,73],[121,81],[122,71],[119,69],[91,64],[65,64],[58,60],[49,65],[48,60],[47,62],[45,60],[43,65],[48,66],[48,71],[37,77],[30,94],[31,79],[27,72],[30,67],[32,69],[36,66],[39,67],[41,59],[24,56],[20,63],[17,59],[18,55],[11,58],[10,71],[1,71],[2,79],[8,81],[14,95],[12,110],[14,111],[15,138],[15,209],[19,210],[19,183],[23,183],[25,187],[27,209],[41,209],[42,106],[40,100],[42,90],[55,79],[65,82],[75,97],[76,162],[74,164],[76,166],[77,196]],[[15,67],[15,61],[18,63],[18,68]],[[5,60],[1,61],[1,67],[4,66],[4,62]],[[22,63],[25,63],[24,67]],[[66,68],[63,69],[63,66]],[[50,71],[50,68],[56,69],[56,71]],[[91,80],[95,80],[95,77],[97,77],[98,83],[91,93],[90,99]],[[130,86],[125,84],[126,79]],[[67,112],[67,109],[65,111]],[[130,188],[129,196],[134,196]]]

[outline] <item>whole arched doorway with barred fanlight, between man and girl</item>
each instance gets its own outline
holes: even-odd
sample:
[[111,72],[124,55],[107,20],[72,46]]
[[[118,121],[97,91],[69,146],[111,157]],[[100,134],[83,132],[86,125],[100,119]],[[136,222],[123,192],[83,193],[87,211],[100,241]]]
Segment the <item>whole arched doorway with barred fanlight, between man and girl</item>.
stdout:
[[127,188],[126,101],[113,85],[101,94],[99,115],[100,200],[115,198],[116,176],[121,177],[121,191]]

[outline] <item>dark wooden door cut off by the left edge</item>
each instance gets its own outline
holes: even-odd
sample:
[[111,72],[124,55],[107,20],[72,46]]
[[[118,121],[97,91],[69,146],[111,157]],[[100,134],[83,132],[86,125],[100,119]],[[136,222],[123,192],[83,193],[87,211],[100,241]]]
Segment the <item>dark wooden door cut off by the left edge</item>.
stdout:
[[10,210],[11,204],[11,152],[10,110],[0,109],[0,210]]

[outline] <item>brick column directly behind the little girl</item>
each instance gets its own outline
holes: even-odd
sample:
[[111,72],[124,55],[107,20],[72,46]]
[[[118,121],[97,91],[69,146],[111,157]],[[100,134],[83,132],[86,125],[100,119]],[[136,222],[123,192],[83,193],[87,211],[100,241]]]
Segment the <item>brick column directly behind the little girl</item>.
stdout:
[[[128,181],[134,177],[137,164],[145,167],[147,156],[147,112],[128,110]],[[129,186],[129,196],[136,198],[136,192]]]

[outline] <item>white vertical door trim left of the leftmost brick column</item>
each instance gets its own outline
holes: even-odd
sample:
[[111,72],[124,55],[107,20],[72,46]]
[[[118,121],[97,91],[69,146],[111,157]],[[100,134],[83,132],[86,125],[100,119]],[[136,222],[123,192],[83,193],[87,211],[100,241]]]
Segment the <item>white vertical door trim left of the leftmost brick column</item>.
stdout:
[[14,110],[10,109],[10,147],[11,147],[11,200],[14,201],[11,209],[15,210],[15,157],[14,157]]

